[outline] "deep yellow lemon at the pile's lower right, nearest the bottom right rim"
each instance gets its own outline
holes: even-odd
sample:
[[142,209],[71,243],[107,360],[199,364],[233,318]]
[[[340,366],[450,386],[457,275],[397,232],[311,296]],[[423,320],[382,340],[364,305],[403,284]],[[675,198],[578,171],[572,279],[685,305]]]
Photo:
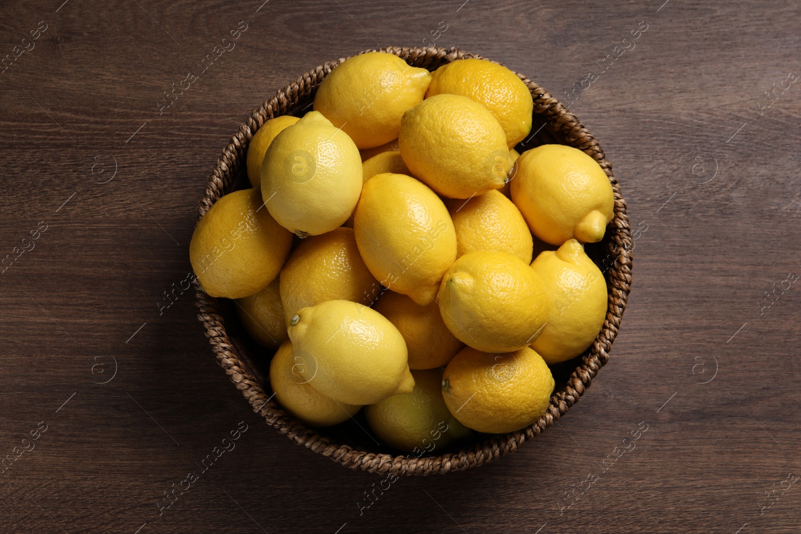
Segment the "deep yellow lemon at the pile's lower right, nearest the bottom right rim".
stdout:
[[490,354],[465,347],[442,379],[442,396],[467,428],[501,434],[536,423],[548,409],[553,375],[530,347]]

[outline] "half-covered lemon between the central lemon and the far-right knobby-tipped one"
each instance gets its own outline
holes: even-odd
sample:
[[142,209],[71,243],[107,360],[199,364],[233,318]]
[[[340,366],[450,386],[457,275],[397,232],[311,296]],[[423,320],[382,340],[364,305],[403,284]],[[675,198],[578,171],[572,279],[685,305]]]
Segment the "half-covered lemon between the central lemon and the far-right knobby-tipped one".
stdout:
[[531,263],[533,242],[523,215],[500,191],[487,191],[467,202],[446,203],[456,229],[457,258],[474,251],[499,251]]

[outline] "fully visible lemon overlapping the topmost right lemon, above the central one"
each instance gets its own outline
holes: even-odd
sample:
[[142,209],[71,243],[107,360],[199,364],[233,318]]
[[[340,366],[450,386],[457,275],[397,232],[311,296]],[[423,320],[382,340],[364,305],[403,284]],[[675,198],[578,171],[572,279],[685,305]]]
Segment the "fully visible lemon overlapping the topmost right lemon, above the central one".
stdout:
[[499,189],[512,167],[501,124],[457,94],[437,94],[406,111],[398,147],[409,171],[452,199]]

